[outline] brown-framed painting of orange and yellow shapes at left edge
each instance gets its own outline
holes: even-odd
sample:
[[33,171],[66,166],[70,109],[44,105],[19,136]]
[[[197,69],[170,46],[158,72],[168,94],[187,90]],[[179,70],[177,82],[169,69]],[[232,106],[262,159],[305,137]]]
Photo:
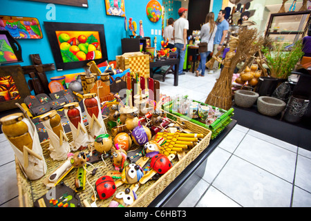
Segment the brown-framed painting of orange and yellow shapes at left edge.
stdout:
[[21,66],[0,67],[0,111],[17,108],[30,95],[28,84]]

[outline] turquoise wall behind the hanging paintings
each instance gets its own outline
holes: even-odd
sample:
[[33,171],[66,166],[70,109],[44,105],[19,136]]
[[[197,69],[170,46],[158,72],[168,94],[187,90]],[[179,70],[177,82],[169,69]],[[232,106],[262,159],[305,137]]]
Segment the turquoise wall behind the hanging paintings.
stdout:
[[[162,21],[153,23],[149,21],[146,14],[146,6],[149,0],[125,0],[126,18],[130,17],[138,23],[142,20],[144,27],[144,36],[153,39],[157,36],[157,48],[160,50],[161,35],[151,35],[151,29],[162,30]],[[162,4],[162,1],[159,1]],[[1,0],[0,15],[20,16],[20,17],[35,17],[39,19],[39,23],[43,33],[43,39],[17,39],[21,45],[23,62],[18,63],[21,66],[32,65],[29,55],[39,54],[43,64],[55,63],[48,37],[46,36],[44,21],[54,22],[70,22],[70,23],[100,23],[104,24],[106,35],[106,47],[108,59],[115,60],[115,56],[122,55],[121,39],[126,37],[124,30],[124,17],[106,15],[106,6],[104,0],[88,0],[88,8],[64,6],[55,4],[55,20],[48,20],[50,8],[48,3],[25,0]],[[67,75],[71,73],[83,72],[83,68],[50,71],[46,75],[48,79],[59,75]],[[28,75],[25,75],[28,81]]]

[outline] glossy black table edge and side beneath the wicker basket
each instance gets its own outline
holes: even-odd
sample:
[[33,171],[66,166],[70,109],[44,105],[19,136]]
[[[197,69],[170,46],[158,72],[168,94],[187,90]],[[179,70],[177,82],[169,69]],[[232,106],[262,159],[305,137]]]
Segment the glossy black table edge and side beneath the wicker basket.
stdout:
[[198,181],[205,173],[207,157],[214,151],[220,142],[232,131],[236,126],[235,119],[214,139],[209,141],[209,146],[202,151],[196,159],[189,164],[167,188],[160,193],[156,199],[149,204],[149,207],[177,207],[182,200],[194,189]]

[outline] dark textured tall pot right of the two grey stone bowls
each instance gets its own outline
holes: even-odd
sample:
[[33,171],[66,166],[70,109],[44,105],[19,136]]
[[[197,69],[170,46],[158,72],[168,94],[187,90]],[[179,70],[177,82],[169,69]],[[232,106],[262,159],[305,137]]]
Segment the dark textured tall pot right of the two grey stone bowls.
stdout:
[[308,97],[292,95],[286,107],[284,119],[292,123],[300,122],[301,117],[307,112],[309,102]]

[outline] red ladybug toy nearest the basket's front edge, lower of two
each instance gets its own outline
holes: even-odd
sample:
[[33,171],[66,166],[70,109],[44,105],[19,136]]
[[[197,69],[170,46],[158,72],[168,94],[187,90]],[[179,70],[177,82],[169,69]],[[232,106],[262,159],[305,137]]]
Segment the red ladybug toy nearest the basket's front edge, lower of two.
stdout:
[[104,200],[110,198],[115,193],[117,186],[115,186],[113,178],[109,177],[109,175],[104,175],[95,182],[95,190],[97,197],[100,200]]

